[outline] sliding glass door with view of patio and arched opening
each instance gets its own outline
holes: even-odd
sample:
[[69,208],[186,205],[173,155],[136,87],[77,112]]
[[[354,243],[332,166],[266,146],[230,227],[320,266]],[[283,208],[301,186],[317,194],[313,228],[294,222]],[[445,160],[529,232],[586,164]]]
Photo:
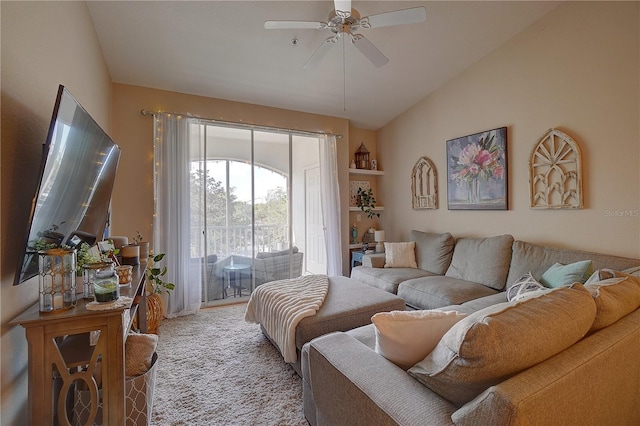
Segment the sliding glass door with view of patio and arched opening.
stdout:
[[199,122],[189,140],[190,267],[204,304],[326,273],[318,138]]

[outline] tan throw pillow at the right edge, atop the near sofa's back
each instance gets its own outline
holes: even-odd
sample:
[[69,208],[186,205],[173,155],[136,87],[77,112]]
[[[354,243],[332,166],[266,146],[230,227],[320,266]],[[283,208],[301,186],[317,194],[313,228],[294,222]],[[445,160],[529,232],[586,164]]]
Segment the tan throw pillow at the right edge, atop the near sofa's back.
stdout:
[[640,279],[631,275],[592,282],[585,288],[596,302],[591,331],[610,326],[640,306]]

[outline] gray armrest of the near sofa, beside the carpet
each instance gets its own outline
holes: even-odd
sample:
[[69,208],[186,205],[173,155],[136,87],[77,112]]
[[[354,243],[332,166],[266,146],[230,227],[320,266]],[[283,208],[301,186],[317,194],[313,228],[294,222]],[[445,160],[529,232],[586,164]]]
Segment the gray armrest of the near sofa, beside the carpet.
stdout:
[[349,334],[321,336],[308,349],[318,425],[453,424],[454,405]]

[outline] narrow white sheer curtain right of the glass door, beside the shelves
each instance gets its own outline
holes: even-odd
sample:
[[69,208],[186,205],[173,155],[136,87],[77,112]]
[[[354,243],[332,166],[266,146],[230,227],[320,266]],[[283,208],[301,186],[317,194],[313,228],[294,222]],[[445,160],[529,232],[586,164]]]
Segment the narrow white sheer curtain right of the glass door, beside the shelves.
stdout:
[[325,246],[327,248],[327,275],[342,275],[338,147],[335,136],[325,135],[320,141],[320,183]]

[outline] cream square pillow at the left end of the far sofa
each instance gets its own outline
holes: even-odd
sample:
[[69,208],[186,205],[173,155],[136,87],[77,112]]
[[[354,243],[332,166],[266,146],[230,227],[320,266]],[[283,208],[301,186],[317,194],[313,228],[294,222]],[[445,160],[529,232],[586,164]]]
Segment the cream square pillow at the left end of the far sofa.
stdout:
[[411,241],[416,242],[416,263],[418,268],[444,275],[451,263],[455,239],[450,233],[431,234],[413,230]]

